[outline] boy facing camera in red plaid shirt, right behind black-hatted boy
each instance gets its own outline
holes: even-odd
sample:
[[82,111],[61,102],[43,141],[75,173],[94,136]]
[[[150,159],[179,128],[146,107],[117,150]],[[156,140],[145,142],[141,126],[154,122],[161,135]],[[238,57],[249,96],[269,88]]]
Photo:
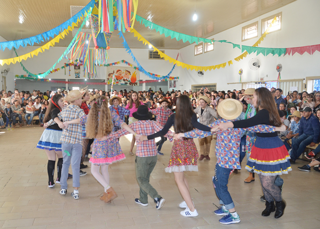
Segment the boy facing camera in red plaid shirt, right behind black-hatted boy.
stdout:
[[[168,121],[169,116],[173,114],[173,112],[168,108],[168,106],[170,106],[170,102],[168,101],[168,99],[162,99],[162,101],[160,101],[159,104],[161,104],[162,107],[150,110],[150,112],[156,115],[156,121],[160,124],[160,126],[164,126],[165,123]],[[164,155],[161,152],[161,148],[166,140],[166,137],[161,136],[161,140],[156,143],[156,145],[158,146],[157,154],[160,156]]]

